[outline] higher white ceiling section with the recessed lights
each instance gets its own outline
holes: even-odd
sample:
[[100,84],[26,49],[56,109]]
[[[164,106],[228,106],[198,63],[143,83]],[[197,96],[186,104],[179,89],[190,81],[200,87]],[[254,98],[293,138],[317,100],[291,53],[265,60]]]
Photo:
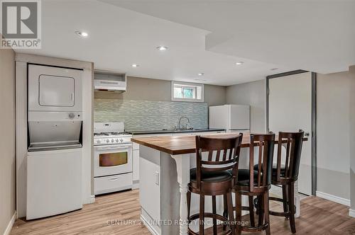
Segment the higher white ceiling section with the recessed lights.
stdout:
[[[231,85],[297,69],[205,50],[210,32],[100,1],[42,1],[42,49],[17,52],[94,62],[129,76]],[[82,39],[75,30],[87,30]],[[167,51],[155,47],[168,46]],[[236,66],[235,63],[244,64]],[[131,64],[139,64],[137,68]],[[278,67],[278,70],[271,71]],[[198,73],[204,76],[198,76]],[[206,81],[197,81],[204,79]]]

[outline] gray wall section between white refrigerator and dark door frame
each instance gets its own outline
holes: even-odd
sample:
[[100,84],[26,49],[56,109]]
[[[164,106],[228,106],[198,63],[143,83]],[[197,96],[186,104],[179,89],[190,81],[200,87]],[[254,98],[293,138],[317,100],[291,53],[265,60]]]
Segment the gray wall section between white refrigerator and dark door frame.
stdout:
[[266,79],[227,86],[226,103],[251,105],[251,132],[266,131]]

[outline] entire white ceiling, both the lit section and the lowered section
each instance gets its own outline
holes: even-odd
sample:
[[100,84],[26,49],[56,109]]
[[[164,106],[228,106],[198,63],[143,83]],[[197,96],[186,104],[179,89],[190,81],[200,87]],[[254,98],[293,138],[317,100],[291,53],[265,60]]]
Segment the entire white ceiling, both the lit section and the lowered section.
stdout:
[[[320,2],[45,0],[42,49],[17,51],[94,62],[129,76],[218,85],[293,69],[344,71],[355,64],[355,1]],[[160,52],[159,45],[169,48]]]

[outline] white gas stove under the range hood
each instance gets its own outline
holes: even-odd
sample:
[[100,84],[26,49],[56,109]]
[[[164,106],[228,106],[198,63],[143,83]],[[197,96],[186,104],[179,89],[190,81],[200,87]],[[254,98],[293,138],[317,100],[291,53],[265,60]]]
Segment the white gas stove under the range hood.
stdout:
[[132,188],[131,137],[123,122],[94,123],[95,195]]

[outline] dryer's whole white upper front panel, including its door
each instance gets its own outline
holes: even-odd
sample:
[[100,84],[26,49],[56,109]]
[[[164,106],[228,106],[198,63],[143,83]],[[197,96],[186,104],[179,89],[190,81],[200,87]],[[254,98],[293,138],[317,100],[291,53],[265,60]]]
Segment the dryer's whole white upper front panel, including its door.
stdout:
[[82,111],[82,70],[28,64],[28,111]]

